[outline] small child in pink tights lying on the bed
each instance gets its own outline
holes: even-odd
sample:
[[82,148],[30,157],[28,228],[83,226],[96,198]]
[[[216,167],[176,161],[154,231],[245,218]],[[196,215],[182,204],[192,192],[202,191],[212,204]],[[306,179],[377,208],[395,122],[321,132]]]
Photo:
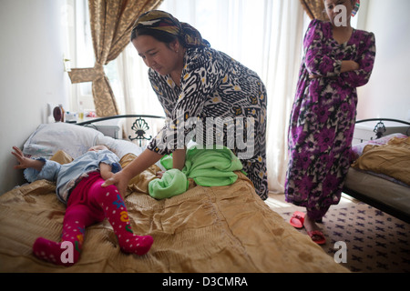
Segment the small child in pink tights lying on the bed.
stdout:
[[[74,265],[79,258],[85,228],[106,217],[124,252],[141,256],[149,251],[153,239],[151,236],[133,234],[127,208],[117,187],[101,187],[106,179],[120,170],[118,156],[106,146],[93,146],[86,154],[66,165],[44,158],[27,158],[18,147],[13,146],[13,149],[15,152],[12,154],[19,162],[15,168],[26,169],[25,176],[29,182],[40,179],[56,181],[56,195],[67,204],[62,243],[39,237],[33,246],[35,256],[56,265]],[[72,259],[69,260],[63,254],[67,254],[67,242],[74,246]]]

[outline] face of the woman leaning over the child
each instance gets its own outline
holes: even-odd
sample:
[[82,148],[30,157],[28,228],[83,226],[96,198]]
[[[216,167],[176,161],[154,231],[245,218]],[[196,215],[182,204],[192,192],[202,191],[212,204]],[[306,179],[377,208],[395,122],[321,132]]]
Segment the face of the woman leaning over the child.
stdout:
[[132,44],[145,65],[160,75],[169,75],[179,67],[178,41],[168,45],[150,35],[139,35],[132,41]]

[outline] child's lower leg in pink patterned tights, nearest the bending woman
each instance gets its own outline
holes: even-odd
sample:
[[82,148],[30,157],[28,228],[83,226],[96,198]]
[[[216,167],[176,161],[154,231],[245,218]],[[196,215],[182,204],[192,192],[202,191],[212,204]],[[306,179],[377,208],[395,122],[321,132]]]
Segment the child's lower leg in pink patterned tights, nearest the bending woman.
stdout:
[[99,186],[95,196],[97,203],[103,208],[106,218],[118,237],[118,244],[126,253],[139,256],[146,254],[154,242],[152,236],[134,235],[129,223],[128,211],[124,200],[116,186],[102,188]]

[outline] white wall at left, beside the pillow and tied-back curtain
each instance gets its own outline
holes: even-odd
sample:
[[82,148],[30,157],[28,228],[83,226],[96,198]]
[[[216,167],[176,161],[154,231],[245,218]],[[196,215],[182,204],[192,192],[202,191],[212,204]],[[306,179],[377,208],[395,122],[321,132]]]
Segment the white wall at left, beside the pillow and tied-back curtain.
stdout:
[[0,0],[0,195],[23,182],[12,146],[47,122],[46,104],[67,104],[64,0]]

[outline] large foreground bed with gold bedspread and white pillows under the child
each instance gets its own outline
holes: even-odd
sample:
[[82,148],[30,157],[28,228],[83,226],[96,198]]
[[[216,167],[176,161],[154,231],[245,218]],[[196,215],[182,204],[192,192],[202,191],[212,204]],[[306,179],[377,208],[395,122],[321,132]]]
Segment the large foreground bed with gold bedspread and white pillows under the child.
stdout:
[[[104,144],[121,158],[121,166],[127,166],[142,151],[138,143],[102,135],[96,125],[87,125],[39,125],[27,139],[24,153],[67,163],[89,146]],[[153,165],[133,178],[125,198],[134,232],[154,238],[148,254],[121,252],[106,220],[87,227],[76,265],[54,266],[37,259],[32,254],[36,237],[58,241],[65,213],[56,198],[56,185],[40,180],[0,196],[0,272],[348,271],[273,212],[240,171],[231,186],[197,186],[190,181],[185,193],[155,199],[147,185],[159,168]]]

